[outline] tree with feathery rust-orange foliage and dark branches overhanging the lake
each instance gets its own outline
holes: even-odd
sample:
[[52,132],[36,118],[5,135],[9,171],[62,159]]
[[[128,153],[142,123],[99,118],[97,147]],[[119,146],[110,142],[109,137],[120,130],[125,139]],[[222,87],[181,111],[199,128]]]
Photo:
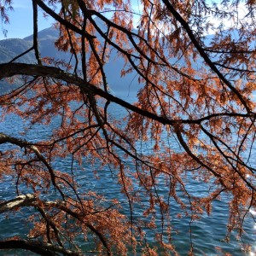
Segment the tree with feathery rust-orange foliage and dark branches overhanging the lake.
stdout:
[[[172,203],[192,224],[226,195],[227,231],[241,236],[244,219],[256,207],[256,2],[142,0],[140,13],[132,4],[32,0],[32,48],[0,64],[1,79],[19,81],[1,95],[1,114],[19,115],[33,131],[38,124],[54,122],[55,128],[40,141],[29,141],[26,133],[0,134],[0,143],[9,145],[1,149],[1,179],[11,177],[15,184],[0,212],[25,212],[30,229],[28,237],[0,241],[1,249],[80,255],[82,239],[101,255],[178,253]],[[8,22],[12,1],[0,6]],[[70,53],[69,62],[40,56],[38,9],[55,19],[55,47]],[[19,62],[31,51],[35,64]],[[113,55],[124,60],[116,76],[136,73],[137,102],[113,94],[106,73]],[[111,115],[113,104],[125,117]],[[61,159],[68,169],[55,167]],[[91,172],[96,166],[96,176],[112,172],[128,215],[117,199],[90,191],[85,178],[80,187],[85,161]],[[207,193],[189,190],[192,181]],[[147,232],[155,233],[158,247],[148,244]],[[192,239],[188,253],[194,253]]]

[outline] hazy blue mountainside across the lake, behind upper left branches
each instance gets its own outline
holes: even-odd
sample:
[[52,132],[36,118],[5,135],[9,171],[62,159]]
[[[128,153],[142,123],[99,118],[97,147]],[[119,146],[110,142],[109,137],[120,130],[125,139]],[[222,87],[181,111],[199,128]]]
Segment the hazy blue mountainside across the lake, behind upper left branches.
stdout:
[[[55,40],[58,36],[59,32],[54,27],[49,27],[38,32],[41,57],[53,57],[55,60],[69,61],[70,53],[55,49]],[[10,38],[0,40],[0,63],[11,61],[15,56],[30,49],[32,47],[32,39],[31,35],[23,39]],[[16,60],[16,62],[36,63],[34,52],[30,51]],[[120,72],[123,66],[123,59],[119,58],[112,51],[108,64],[105,66],[108,86],[113,93],[120,94],[122,91],[125,91],[125,96],[136,96],[137,90],[141,87],[137,83],[137,75],[133,72],[127,74],[125,78],[121,78]]]

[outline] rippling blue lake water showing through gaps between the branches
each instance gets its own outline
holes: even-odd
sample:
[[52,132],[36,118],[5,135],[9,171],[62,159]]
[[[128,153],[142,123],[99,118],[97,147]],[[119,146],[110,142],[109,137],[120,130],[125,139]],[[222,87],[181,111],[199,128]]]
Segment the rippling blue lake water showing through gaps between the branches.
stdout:
[[[118,116],[120,113],[116,106],[110,106],[110,110],[113,116]],[[37,141],[45,137],[49,137],[50,131],[53,126],[58,125],[58,121],[52,123],[50,126],[35,125],[31,130],[26,131],[26,139],[30,141]],[[26,124],[23,124],[20,118],[15,115],[9,115],[4,122],[0,123],[0,132],[7,133],[14,137],[24,136]],[[175,142],[171,142],[175,144]],[[0,150],[9,147],[9,145],[0,145]],[[150,142],[143,146],[142,150],[146,153],[150,150]],[[177,148],[178,150],[178,148]],[[58,160],[55,163],[56,168],[68,172],[70,170],[71,158],[66,160]],[[131,163],[130,163],[131,165]],[[76,172],[76,177],[81,183],[85,190],[95,190],[98,194],[104,195],[105,198],[113,199],[118,198],[123,207],[123,212],[130,216],[129,204],[125,196],[120,193],[120,187],[117,183],[117,178],[113,172],[110,170],[103,169],[97,172],[97,177],[94,174],[94,170],[97,170],[97,164],[95,166],[90,166],[89,161],[84,160],[83,171],[79,169]],[[158,192],[160,195],[166,196],[166,183],[159,180]],[[28,193],[26,188],[23,189],[23,193]],[[194,191],[195,195],[203,195],[207,193],[207,187],[202,186],[201,183],[195,180],[189,180],[187,189]],[[15,196],[15,183],[12,182],[10,177],[5,177],[4,182],[0,183],[0,201],[9,200]],[[146,205],[147,202],[143,201]],[[133,212],[133,218],[141,218],[142,208],[135,208]],[[26,209],[26,211],[32,211],[32,209]],[[9,218],[3,218],[0,216],[0,239],[6,236],[26,236],[26,230],[29,228],[26,225],[26,211],[20,212],[15,215],[10,215]],[[177,252],[180,255],[187,255],[190,247],[190,242],[193,242],[195,255],[222,255],[216,251],[216,247],[220,247],[224,252],[229,252],[231,255],[255,255],[253,252],[256,251],[256,235],[254,229],[253,219],[249,218],[245,222],[245,234],[242,236],[242,240],[236,238],[236,233],[232,233],[230,236],[230,242],[224,241],[226,235],[226,224],[229,217],[228,205],[225,198],[222,201],[216,200],[213,202],[212,214],[207,216],[206,214],[202,216],[201,219],[194,221],[190,226],[190,218],[183,217],[177,218],[177,213],[182,212],[175,201],[171,201],[171,219],[172,219],[172,241],[177,248]],[[189,228],[192,230],[192,237],[190,237]],[[154,244],[154,235],[147,234],[147,240],[150,244]],[[252,253],[246,254],[242,247],[244,244],[249,244],[252,247]],[[157,244],[156,244],[157,246]],[[81,244],[83,250],[88,249],[88,245]],[[4,252],[0,255],[13,255],[12,252]],[[140,252],[137,253],[139,255]],[[20,252],[19,255],[33,255],[32,253]]]

